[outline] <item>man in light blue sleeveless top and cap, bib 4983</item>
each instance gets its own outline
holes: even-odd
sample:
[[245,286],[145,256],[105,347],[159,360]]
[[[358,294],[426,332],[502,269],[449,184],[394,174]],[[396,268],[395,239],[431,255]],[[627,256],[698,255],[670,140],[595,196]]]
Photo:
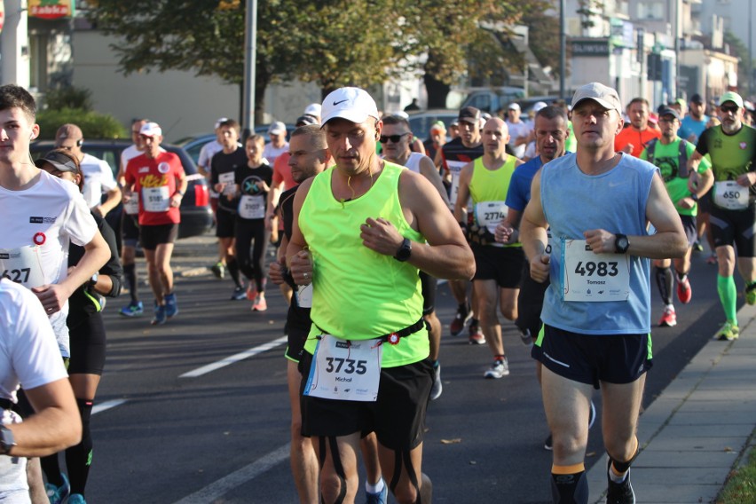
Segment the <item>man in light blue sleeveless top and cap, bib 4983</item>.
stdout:
[[[555,503],[590,500],[581,461],[591,395],[600,389],[610,461],[606,501],[634,504],[630,466],[639,451],[638,412],[652,365],[649,259],[681,257],[688,247],[658,169],[614,150],[621,111],[617,91],[601,83],[575,92],[576,153],[536,174],[520,225],[532,279],[550,279],[544,328],[531,355],[542,364]],[[654,234],[646,231],[648,223]]]

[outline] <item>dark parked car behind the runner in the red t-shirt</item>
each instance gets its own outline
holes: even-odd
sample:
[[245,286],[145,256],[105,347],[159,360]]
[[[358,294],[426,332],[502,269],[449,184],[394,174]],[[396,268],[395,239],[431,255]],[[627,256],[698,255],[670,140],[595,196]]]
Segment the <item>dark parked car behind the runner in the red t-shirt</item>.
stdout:
[[[113,175],[118,173],[123,149],[130,146],[127,140],[86,140],[83,151],[99,159],[105,160],[113,170]],[[177,154],[184,167],[189,185],[186,194],[181,201],[181,224],[178,226],[178,238],[198,236],[208,232],[213,225],[213,213],[209,206],[208,183],[205,177],[197,172],[197,165],[184,149],[170,144],[161,144],[169,153]],[[50,140],[41,140],[30,146],[32,158],[37,159],[43,154],[55,148],[55,143]],[[121,226],[122,205],[107,214],[106,220],[115,230]]]

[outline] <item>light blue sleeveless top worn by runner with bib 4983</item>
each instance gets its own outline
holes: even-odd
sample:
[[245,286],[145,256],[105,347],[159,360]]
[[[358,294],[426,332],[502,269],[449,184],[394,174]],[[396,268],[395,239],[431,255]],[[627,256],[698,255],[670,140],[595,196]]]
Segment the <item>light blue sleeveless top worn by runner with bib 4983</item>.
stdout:
[[[541,201],[551,225],[551,287],[546,293],[541,319],[544,323],[586,335],[649,333],[649,259],[630,256],[630,295],[627,301],[595,303],[563,300],[563,239],[584,240],[588,229],[605,229],[627,235],[646,235],[646,203],[651,178],[658,169],[630,155],[610,171],[588,176],[578,168],[575,156],[551,161],[541,172]],[[583,201],[590,194],[591,201]],[[607,316],[610,313],[610,317]]]

